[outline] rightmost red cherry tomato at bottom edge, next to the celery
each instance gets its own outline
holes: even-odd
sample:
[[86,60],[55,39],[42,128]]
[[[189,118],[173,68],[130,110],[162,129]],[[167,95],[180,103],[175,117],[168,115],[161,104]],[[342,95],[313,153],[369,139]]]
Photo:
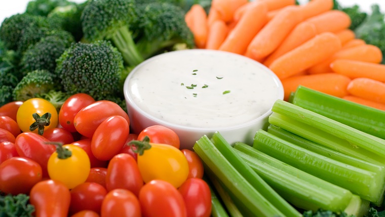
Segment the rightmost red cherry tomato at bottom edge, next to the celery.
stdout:
[[187,179],[178,191],[186,204],[187,216],[209,217],[211,215],[210,187],[203,179]]

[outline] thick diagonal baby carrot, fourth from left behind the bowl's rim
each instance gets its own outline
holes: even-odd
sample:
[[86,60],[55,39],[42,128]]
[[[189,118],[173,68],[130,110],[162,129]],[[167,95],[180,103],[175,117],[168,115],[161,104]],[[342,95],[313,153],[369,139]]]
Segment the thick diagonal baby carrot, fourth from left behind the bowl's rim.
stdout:
[[253,59],[267,57],[282,43],[290,31],[302,21],[298,10],[297,6],[286,7],[255,35],[247,47],[247,52],[251,53]]

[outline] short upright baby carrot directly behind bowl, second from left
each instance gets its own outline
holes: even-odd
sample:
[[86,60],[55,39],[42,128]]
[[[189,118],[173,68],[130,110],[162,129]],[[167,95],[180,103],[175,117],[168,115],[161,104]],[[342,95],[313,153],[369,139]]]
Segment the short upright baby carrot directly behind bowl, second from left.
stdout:
[[215,20],[209,26],[206,49],[218,49],[228,33],[228,27],[223,20]]

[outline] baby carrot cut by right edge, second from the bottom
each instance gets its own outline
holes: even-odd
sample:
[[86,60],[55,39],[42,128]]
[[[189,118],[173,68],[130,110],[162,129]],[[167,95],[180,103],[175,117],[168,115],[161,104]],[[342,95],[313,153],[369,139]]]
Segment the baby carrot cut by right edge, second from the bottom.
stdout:
[[355,78],[348,87],[351,95],[385,104],[385,83],[371,78]]

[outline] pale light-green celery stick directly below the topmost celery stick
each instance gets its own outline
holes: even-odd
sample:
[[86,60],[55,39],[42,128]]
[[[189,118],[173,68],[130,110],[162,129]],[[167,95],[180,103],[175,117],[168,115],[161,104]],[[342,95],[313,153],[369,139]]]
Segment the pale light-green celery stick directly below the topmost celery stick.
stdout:
[[344,125],[281,99],[278,99],[274,103],[272,111],[318,128],[336,137],[347,140],[352,145],[357,145],[358,147],[385,157],[384,139],[364,133],[353,127]]

